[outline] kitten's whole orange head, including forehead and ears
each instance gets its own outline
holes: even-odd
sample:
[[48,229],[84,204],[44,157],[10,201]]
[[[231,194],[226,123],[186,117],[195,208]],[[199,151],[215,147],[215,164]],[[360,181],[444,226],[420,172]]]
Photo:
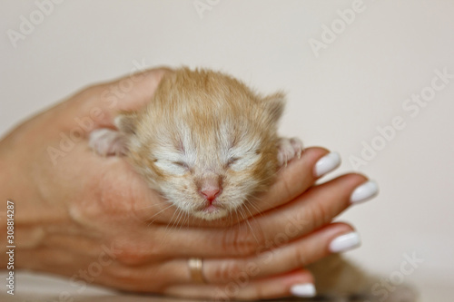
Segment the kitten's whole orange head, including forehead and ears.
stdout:
[[277,170],[282,95],[259,98],[219,73],[185,75],[163,79],[134,115],[128,157],[186,213],[211,220],[244,211]]

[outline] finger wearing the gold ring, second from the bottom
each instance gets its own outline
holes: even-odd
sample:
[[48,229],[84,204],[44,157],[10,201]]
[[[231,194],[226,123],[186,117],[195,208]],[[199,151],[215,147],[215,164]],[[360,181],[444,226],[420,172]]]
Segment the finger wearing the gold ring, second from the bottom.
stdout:
[[[306,267],[307,265],[339,250],[339,239],[344,235],[352,234],[352,228],[343,223],[335,223],[319,229],[311,235],[295,240],[287,245],[273,248],[249,258],[204,258],[202,259],[202,278],[209,285],[229,284],[238,280],[256,280],[271,278],[287,274]],[[333,246],[333,242],[337,245]],[[346,240],[341,242],[342,248],[348,248]],[[358,242],[355,243],[357,246]],[[336,250],[333,250],[333,248]],[[353,248],[350,245],[350,248]],[[272,247],[271,247],[272,248]],[[122,286],[131,290],[143,291],[143,284],[134,279],[124,282],[127,276],[135,279],[156,279],[156,287],[165,287],[169,284],[193,284],[189,269],[188,258],[155,261],[149,263],[139,259],[139,263],[132,263],[131,258],[115,255],[118,262],[106,267],[110,276],[110,283],[122,280]],[[116,281],[115,281],[116,280]]]

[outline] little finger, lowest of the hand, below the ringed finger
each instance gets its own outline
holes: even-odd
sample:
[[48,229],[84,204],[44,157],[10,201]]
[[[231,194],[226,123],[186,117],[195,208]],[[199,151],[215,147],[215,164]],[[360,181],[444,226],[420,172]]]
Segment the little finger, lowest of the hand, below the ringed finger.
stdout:
[[[242,278],[232,280],[223,285],[185,284],[166,287],[163,294],[174,297],[205,298],[215,301],[230,301],[232,299],[257,300],[275,297],[291,296],[291,287],[295,285],[312,285],[313,278],[308,270],[299,269],[293,272],[252,280],[245,274]],[[313,286],[312,286],[313,287]],[[312,297],[315,292],[309,292]]]

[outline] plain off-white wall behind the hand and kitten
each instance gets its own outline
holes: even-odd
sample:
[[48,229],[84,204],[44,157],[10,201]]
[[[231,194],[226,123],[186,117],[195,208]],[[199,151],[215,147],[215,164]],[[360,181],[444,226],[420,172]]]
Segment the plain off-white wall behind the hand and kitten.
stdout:
[[[435,70],[454,74],[454,2],[202,0],[212,3],[202,17],[196,2],[64,1],[15,45],[8,30],[19,32],[21,15],[30,20],[38,6],[2,1],[0,132],[138,64],[210,67],[263,93],[284,89],[281,133],[339,151],[334,175],[354,170],[350,156],[380,142],[377,127],[400,116],[405,127],[356,169],[378,181],[380,196],[341,216],[363,239],[349,256],[390,277],[416,253],[424,262],[406,280],[429,300],[448,301],[441,293],[454,280],[454,78],[416,116],[402,106],[429,92]],[[311,39],[322,42],[325,25],[341,26],[338,10],[358,3],[362,11],[316,55]]]

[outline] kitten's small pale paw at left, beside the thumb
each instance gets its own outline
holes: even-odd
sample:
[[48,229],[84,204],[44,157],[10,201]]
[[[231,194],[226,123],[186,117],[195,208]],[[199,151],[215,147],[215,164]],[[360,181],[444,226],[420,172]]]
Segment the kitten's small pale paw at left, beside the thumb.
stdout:
[[103,156],[124,155],[127,151],[124,134],[112,129],[94,130],[90,133],[88,145]]

